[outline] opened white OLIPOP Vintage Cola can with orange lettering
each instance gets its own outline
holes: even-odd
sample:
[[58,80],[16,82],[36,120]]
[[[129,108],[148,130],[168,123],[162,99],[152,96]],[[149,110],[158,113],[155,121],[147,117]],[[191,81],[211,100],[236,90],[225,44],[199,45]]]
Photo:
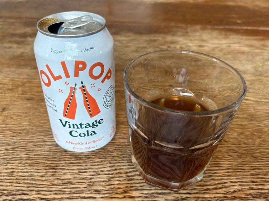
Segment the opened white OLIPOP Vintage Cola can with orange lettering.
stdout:
[[64,149],[92,151],[116,131],[114,42],[106,20],[62,12],[37,23],[35,59],[54,140]]

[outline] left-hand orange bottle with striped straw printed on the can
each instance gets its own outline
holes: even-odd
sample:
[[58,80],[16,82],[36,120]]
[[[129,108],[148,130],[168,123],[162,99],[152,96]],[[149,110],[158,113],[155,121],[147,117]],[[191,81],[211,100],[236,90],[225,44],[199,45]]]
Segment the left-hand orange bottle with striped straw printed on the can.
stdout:
[[77,101],[76,101],[76,86],[70,87],[70,92],[66,100],[64,101],[64,112],[63,116],[69,119],[75,119],[76,110],[77,110]]

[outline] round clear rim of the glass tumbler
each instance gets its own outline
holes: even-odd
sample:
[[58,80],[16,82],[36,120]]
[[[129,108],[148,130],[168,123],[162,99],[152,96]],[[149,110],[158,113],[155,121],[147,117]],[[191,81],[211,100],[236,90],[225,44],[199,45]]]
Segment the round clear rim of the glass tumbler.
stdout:
[[[234,72],[239,76],[239,78],[241,79],[242,81],[242,84],[243,84],[243,90],[242,90],[242,93],[241,93],[241,96],[235,101],[233,102],[232,104],[230,105],[227,105],[225,107],[222,107],[222,108],[219,108],[219,109],[215,109],[215,110],[207,110],[207,111],[201,111],[201,112],[192,112],[192,111],[183,111],[183,110],[177,110],[177,109],[170,109],[170,108],[165,108],[165,107],[162,107],[162,106],[159,106],[159,105],[156,105],[154,103],[151,103],[149,101],[146,101],[145,99],[143,99],[142,97],[138,96],[132,89],[131,87],[129,86],[128,84],[128,81],[126,79],[126,74],[127,74],[127,70],[129,69],[129,67],[136,61],[136,60],[139,60],[140,58],[144,57],[144,56],[147,56],[147,55],[150,55],[150,54],[153,54],[153,53],[158,53],[158,52],[169,52],[169,51],[172,51],[172,52],[180,52],[180,53],[183,53],[183,54],[194,54],[194,55],[200,55],[204,58],[208,58],[208,59],[211,59],[213,60],[214,62],[218,61],[224,65],[226,65],[227,67],[229,67],[229,69],[231,70],[234,70]],[[207,54],[203,54],[203,53],[200,53],[200,52],[195,52],[195,51],[187,51],[187,50],[157,50],[157,51],[152,51],[152,52],[148,52],[148,53],[145,53],[145,54],[142,54],[140,56],[137,56],[136,58],[134,58],[132,61],[130,61],[130,63],[125,67],[124,69],[124,72],[123,72],[123,84],[124,86],[127,88],[127,91],[132,95],[134,96],[138,101],[142,102],[144,105],[147,105],[149,106],[150,108],[153,108],[153,109],[156,109],[156,110],[160,110],[162,112],[166,112],[166,113],[170,113],[170,114],[179,114],[179,115],[191,115],[191,116],[209,116],[209,115],[212,115],[212,114],[219,114],[219,113],[223,113],[225,111],[228,111],[230,109],[233,109],[234,107],[236,107],[237,105],[239,105],[244,97],[246,96],[246,93],[247,93],[247,85],[246,85],[246,82],[243,78],[243,76],[231,65],[229,65],[228,63],[224,62],[223,60],[220,60],[218,58],[215,58],[213,56],[210,56],[210,55],[207,55]]]

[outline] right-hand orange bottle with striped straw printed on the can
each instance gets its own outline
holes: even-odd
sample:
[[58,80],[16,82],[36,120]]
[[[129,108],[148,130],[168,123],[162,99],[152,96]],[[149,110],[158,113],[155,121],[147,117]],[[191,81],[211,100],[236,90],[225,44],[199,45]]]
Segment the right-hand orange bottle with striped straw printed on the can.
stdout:
[[86,86],[83,85],[83,82],[81,82],[82,86],[79,87],[79,89],[82,92],[83,95],[83,103],[84,107],[87,110],[87,113],[92,118],[100,113],[100,109],[97,105],[96,100],[90,95],[90,93],[87,91]]

